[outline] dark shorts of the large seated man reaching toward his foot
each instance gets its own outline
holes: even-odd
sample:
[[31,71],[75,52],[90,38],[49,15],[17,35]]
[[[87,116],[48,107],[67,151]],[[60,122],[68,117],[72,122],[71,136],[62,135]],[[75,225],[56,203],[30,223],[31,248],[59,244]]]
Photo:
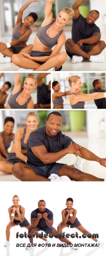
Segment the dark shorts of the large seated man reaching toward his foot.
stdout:
[[49,177],[50,174],[57,174],[60,171],[61,166],[63,166],[62,163],[53,163],[50,164],[50,166],[34,166],[32,164],[27,163],[28,166],[31,166],[33,168],[33,171],[35,171],[36,174],[43,176],[43,177]]

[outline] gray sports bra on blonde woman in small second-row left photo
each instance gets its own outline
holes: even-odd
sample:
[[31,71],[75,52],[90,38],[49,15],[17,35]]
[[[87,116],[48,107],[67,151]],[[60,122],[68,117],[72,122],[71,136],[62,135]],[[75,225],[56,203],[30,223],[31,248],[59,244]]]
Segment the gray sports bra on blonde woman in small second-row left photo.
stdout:
[[10,98],[8,100],[8,104],[10,106],[11,109],[26,109],[29,101],[31,101],[31,97],[28,98],[28,100],[26,101],[26,103],[22,106],[20,106],[17,102],[16,102],[16,98],[19,96],[20,93],[22,93],[24,88],[22,88],[22,90],[20,90],[18,93],[15,93],[14,95],[10,95]]

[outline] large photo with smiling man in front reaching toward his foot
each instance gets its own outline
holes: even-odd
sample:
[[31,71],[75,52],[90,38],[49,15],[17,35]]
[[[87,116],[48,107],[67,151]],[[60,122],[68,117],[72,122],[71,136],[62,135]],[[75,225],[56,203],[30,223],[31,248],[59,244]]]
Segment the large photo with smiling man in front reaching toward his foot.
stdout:
[[2,181],[104,181],[105,111],[7,109],[1,121]]

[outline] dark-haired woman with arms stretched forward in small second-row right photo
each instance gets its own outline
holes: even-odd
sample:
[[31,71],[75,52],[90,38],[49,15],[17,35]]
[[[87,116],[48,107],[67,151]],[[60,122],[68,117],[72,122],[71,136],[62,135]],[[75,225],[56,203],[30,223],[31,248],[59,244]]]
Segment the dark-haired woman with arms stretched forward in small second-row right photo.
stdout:
[[66,92],[60,92],[60,84],[58,81],[52,82],[52,88],[54,93],[52,94],[53,101],[53,109],[63,109],[63,98],[62,96],[70,95],[71,90],[67,90]]

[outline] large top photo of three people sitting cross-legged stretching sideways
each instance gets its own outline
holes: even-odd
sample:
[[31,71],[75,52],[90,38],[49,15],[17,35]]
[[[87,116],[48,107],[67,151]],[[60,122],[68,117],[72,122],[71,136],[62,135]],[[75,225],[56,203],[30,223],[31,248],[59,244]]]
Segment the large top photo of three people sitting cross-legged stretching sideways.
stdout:
[[20,5],[1,0],[0,71],[106,71],[100,0],[23,0]]

